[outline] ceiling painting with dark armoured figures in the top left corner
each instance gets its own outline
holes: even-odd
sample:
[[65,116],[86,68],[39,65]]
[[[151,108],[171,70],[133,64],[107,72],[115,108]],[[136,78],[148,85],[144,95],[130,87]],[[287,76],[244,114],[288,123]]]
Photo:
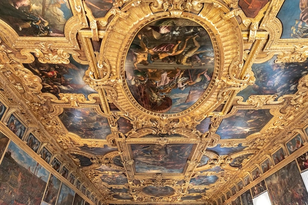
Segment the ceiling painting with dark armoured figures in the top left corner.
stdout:
[[68,0],[1,0],[0,19],[19,36],[64,37],[72,17]]

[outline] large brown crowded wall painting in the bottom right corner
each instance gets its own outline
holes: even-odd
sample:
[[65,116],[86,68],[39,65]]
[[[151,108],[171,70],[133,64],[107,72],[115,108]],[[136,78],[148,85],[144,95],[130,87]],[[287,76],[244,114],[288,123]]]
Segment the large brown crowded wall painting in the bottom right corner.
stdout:
[[295,161],[265,179],[274,205],[305,205],[308,193]]

